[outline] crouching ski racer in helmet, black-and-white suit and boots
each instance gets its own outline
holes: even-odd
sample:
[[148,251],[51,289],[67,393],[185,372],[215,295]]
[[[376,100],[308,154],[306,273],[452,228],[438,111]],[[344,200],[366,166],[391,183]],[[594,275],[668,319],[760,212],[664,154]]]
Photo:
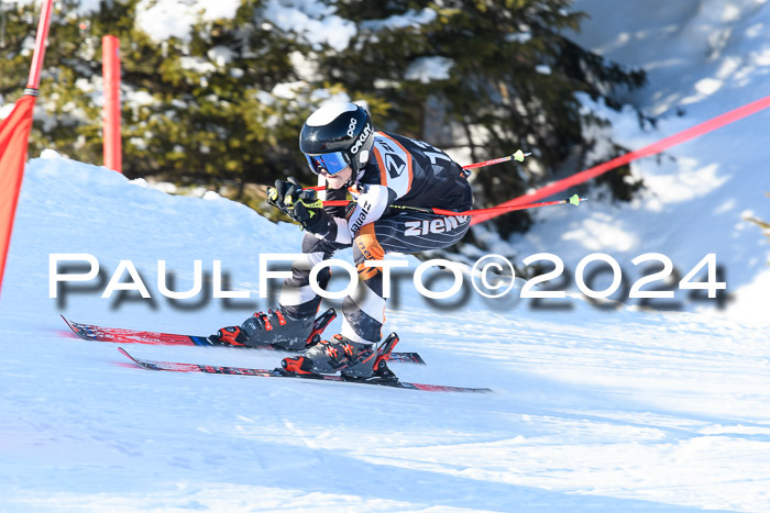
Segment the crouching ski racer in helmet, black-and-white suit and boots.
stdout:
[[[376,344],[385,322],[382,268],[366,266],[386,253],[418,253],[451,246],[469,230],[469,216],[441,216],[399,207],[427,207],[462,212],[472,208],[471,185],[462,167],[421,141],[375,132],[369,112],[349,102],[329,103],[314,112],[299,135],[299,148],[312,172],[326,183],[326,200],[354,202],[323,207],[315,191],[294,180],[276,180],[268,201],[299,223],[306,234],[302,257],[292,265],[279,308],[257,312],[241,326],[211,335],[212,344],[273,345],[305,349],[321,298],[310,288],[312,267],[338,249],[353,247],[359,272],[355,292],[344,299],[340,334],[311,346],[302,356],[285,358],[285,370],[334,373],[367,379],[375,372]],[[319,194],[322,196],[322,194]],[[326,289],[331,272],[322,269]]]

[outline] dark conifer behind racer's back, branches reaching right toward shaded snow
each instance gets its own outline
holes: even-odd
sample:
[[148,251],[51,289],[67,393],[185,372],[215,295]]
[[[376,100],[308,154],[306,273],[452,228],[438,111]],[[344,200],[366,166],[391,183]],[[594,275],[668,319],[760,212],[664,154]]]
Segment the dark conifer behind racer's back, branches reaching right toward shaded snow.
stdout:
[[[428,142],[444,148],[468,146],[474,161],[516,148],[534,152],[536,166],[520,168],[534,169],[530,175],[512,167],[477,174],[477,204],[495,204],[585,164],[581,157],[591,141],[583,129],[606,122],[582,112],[578,93],[619,109],[615,93],[645,82],[644,73],[626,71],[562,35],[583,16],[569,11],[570,3],[340,3],[341,15],[354,20],[359,32],[345,52],[324,55],[321,67],[352,96],[386,104],[385,129],[439,138]],[[418,71],[431,66],[436,78],[427,80]],[[426,133],[431,124],[454,130],[449,137]],[[628,194],[624,183],[613,181],[617,196]],[[520,230],[528,220],[526,212],[509,214],[501,218],[501,227]]]

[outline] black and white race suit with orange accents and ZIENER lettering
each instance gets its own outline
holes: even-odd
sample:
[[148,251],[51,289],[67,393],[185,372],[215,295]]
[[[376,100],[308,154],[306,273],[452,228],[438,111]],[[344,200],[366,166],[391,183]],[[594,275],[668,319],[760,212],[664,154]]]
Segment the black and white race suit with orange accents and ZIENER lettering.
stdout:
[[[369,163],[356,185],[349,190],[327,190],[326,200],[340,200],[350,192],[355,199],[348,209],[327,208],[332,216],[328,233],[307,233],[302,239],[302,258],[292,266],[280,305],[293,316],[315,315],[320,304],[309,286],[310,269],[338,249],[353,246],[359,271],[355,292],[344,299],[341,335],[362,343],[382,338],[385,321],[383,275],[366,260],[381,260],[386,253],[419,253],[451,246],[470,227],[470,216],[443,216],[409,211],[398,207],[429,207],[454,212],[470,210],[471,185],[462,167],[442,150],[396,134],[377,132]],[[321,288],[331,274],[318,275]]]

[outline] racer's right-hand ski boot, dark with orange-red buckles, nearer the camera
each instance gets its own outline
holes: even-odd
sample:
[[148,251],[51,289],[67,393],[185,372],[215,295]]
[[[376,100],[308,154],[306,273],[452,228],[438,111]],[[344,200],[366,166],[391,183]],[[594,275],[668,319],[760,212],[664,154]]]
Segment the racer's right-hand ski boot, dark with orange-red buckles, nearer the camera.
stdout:
[[387,367],[393,348],[398,344],[398,335],[392,333],[377,347],[349,341],[334,335],[331,341],[321,341],[305,356],[284,358],[283,370],[311,378],[315,375],[330,375],[340,371],[345,381],[397,382],[398,378]]

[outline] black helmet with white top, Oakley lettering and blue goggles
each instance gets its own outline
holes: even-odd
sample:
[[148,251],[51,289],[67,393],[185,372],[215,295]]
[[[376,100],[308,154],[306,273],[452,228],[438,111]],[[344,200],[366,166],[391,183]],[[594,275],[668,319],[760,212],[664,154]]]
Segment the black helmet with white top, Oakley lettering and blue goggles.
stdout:
[[366,109],[350,102],[321,107],[310,114],[299,133],[299,149],[316,174],[324,168],[333,175],[345,164],[355,178],[369,161],[373,145],[372,118]]

